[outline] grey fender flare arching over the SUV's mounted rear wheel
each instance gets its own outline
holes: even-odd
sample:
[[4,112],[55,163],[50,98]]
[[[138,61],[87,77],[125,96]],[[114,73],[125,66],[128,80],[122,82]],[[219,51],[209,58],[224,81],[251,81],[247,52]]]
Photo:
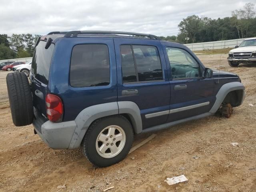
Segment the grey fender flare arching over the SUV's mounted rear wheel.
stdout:
[[75,149],[80,146],[90,124],[98,118],[124,113],[130,117],[134,132],[142,132],[140,110],[134,102],[122,101],[93,105],[82,110],[76,117],[76,128],[68,149]]

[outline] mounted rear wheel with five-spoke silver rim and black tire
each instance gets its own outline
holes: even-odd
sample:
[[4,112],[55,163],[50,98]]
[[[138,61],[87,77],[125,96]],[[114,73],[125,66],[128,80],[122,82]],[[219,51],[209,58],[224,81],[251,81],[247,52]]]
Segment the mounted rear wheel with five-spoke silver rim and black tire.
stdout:
[[[112,128],[114,128],[114,134],[111,134]],[[120,140],[121,135],[123,135],[122,140]],[[88,128],[81,146],[84,156],[92,164],[107,167],[123,160],[132,142],[132,125],[124,116],[116,115],[94,121]],[[103,145],[105,145],[104,150]],[[116,149],[112,150],[112,147]]]

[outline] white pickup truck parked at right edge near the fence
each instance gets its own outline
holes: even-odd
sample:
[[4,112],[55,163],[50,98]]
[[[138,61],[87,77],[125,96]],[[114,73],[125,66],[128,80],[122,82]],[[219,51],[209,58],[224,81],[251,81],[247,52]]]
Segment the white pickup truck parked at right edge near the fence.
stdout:
[[248,38],[228,53],[228,64],[237,67],[240,63],[256,63],[256,37]]

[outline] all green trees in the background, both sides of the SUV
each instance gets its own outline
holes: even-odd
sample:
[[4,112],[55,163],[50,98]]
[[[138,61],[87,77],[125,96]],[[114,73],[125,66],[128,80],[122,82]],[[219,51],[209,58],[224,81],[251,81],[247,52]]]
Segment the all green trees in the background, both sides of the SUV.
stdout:
[[[160,36],[163,40],[179,43],[197,43],[230,40],[256,36],[254,4],[246,3],[242,9],[231,12],[230,17],[212,19],[197,15],[184,18],[177,36]],[[32,57],[40,35],[0,34],[0,60]]]

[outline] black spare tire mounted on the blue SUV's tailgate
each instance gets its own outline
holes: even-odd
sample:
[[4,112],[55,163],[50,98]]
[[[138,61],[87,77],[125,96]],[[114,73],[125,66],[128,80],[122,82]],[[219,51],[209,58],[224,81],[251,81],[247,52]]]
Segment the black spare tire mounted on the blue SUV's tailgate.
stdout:
[[6,76],[12,122],[25,126],[33,122],[33,101],[28,78],[24,73],[9,73]]

